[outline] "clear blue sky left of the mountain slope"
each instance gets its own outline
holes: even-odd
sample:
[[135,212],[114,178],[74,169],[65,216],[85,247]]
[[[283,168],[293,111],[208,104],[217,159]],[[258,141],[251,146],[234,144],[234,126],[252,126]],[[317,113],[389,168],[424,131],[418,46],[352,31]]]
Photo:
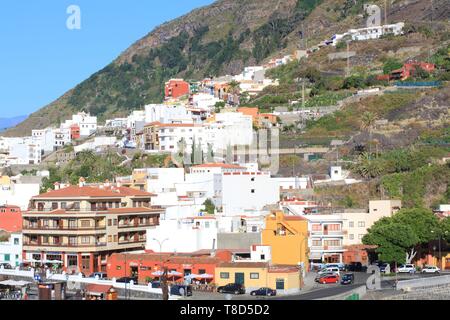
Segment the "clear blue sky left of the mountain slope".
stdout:
[[[2,0],[0,118],[37,111],[112,62],[154,27],[213,2]],[[79,8],[79,20],[76,11],[68,12],[72,5]]]

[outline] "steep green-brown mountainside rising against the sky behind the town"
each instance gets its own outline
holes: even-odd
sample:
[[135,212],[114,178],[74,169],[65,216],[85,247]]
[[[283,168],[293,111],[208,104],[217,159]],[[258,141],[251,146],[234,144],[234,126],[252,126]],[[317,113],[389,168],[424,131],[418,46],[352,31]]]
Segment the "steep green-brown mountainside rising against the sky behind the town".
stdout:
[[[84,110],[100,120],[125,116],[131,110],[163,99],[171,77],[200,80],[237,74],[244,66],[336,32],[365,24],[366,0],[218,0],[167,22],[125,50],[115,61],[5,132],[28,135],[32,128],[58,124]],[[384,1],[370,1],[379,3]],[[434,20],[449,16],[447,0],[435,0]],[[400,0],[389,8],[395,21],[425,21],[429,2]],[[439,13],[439,14],[438,14]]]

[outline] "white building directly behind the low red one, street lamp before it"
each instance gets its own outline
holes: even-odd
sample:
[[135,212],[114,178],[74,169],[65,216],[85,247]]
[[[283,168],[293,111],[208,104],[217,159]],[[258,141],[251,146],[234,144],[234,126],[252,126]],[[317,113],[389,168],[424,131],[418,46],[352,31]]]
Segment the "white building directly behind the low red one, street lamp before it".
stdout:
[[[158,241],[162,243],[160,245]],[[217,222],[214,217],[193,217],[161,220],[160,225],[147,230],[146,250],[154,252],[189,253],[217,249]]]

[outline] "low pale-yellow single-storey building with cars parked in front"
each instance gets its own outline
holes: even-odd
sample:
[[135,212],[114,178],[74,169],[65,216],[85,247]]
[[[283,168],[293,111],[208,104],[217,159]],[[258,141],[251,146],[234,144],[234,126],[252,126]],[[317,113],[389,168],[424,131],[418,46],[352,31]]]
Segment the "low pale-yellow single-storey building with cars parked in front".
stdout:
[[229,283],[244,285],[247,293],[259,288],[276,289],[279,294],[298,293],[300,290],[299,268],[270,265],[266,262],[231,262],[216,267],[217,286]]

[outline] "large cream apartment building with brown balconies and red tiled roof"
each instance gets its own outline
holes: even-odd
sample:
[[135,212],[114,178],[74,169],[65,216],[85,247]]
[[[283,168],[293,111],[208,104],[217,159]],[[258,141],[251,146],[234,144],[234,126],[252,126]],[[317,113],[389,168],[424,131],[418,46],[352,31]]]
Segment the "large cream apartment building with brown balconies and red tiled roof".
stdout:
[[105,184],[68,186],[31,199],[23,213],[27,262],[57,261],[68,271],[106,271],[114,252],[143,249],[146,229],[159,224],[163,210],[153,194]]

